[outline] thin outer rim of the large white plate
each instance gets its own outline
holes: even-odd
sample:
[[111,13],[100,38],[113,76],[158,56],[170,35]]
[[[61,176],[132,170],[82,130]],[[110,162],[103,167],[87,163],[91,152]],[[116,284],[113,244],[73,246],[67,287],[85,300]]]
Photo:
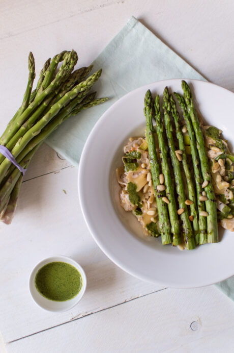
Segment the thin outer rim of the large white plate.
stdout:
[[[103,251],[103,253],[118,267],[120,267],[121,269],[123,269],[125,272],[133,275],[135,278],[138,278],[142,281],[147,281],[147,282],[150,282],[150,283],[154,283],[154,284],[157,284],[159,286],[165,286],[165,287],[169,287],[169,288],[199,288],[199,287],[205,287],[205,286],[208,286],[208,285],[212,285],[212,284],[216,284],[216,283],[219,283],[221,281],[224,281],[224,280],[227,280],[228,278],[231,278],[233,275],[234,275],[234,269],[233,269],[233,273],[231,275],[228,275],[228,276],[220,276],[220,278],[218,278],[215,282],[214,281],[211,281],[211,282],[206,282],[206,283],[202,283],[200,285],[194,285],[194,284],[187,284],[187,285],[183,285],[183,284],[179,284],[179,285],[175,285],[174,283],[171,283],[170,281],[158,281],[158,280],[153,280],[145,275],[140,275],[137,273],[137,271],[133,271],[131,269],[128,268],[128,266],[126,267],[122,262],[119,262],[118,259],[113,255],[113,254],[110,254],[109,253],[109,250],[106,249],[105,245],[103,245],[102,242],[99,241],[99,238],[96,237],[95,235],[95,230],[93,229],[93,226],[90,224],[89,220],[88,220],[88,217],[86,215],[86,212],[84,210],[84,207],[83,207],[83,201],[82,201],[82,192],[81,192],[81,181],[82,181],[82,165],[84,163],[84,160],[85,160],[85,151],[86,151],[86,146],[89,145],[90,143],[90,139],[94,133],[94,131],[97,129],[97,127],[102,124],[102,121],[105,119],[105,116],[108,115],[109,111],[111,111],[112,109],[115,108],[115,105],[118,105],[120,100],[123,100],[123,99],[126,99],[128,98],[128,96],[131,96],[132,94],[135,94],[137,91],[140,91],[142,89],[147,89],[149,86],[152,86],[152,85],[156,85],[158,83],[163,83],[163,82],[178,82],[178,81],[189,81],[191,83],[193,82],[200,82],[204,85],[208,85],[208,86],[216,86],[216,87],[219,87],[219,89],[225,91],[225,92],[228,92],[231,93],[233,95],[233,98],[234,98],[234,92],[222,87],[222,86],[219,86],[219,85],[216,85],[212,82],[209,82],[209,81],[206,81],[206,80],[197,80],[197,79],[188,79],[188,78],[181,78],[181,79],[165,79],[165,80],[159,80],[159,81],[154,81],[152,83],[149,83],[149,84],[145,84],[145,85],[142,85],[140,87],[137,87],[136,89],[126,93],[125,95],[123,95],[122,97],[120,97],[119,99],[117,99],[102,115],[101,117],[98,119],[98,121],[95,123],[94,127],[92,128],[91,132],[89,133],[89,136],[87,137],[86,141],[85,141],[85,144],[82,148],[82,153],[81,153],[81,157],[80,157],[80,162],[79,162],[79,167],[78,167],[78,197],[79,197],[79,203],[80,203],[80,208],[81,208],[81,212],[82,212],[82,215],[83,215],[83,218],[85,220],[85,223],[86,223],[86,226],[89,230],[89,232],[91,233],[93,239],[95,240],[95,242],[97,243],[97,245],[99,246],[99,248]],[[169,85],[169,84],[168,84]],[[217,243],[218,244],[218,243]]]

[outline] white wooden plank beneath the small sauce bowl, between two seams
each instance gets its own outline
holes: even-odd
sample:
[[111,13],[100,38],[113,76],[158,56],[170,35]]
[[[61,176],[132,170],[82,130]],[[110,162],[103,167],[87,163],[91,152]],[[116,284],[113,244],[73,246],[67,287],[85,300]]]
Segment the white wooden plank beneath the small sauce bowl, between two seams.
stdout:
[[[5,342],[162,288],[128,275],[97,247],[81,215],[74,167],[23,183],[15,218],[10,226],[0,225],[0,234],[0,330]],[[59,314],[38,308],[27,285],[36,263],[54,254],[77,260],[88,283],[79,305]]]

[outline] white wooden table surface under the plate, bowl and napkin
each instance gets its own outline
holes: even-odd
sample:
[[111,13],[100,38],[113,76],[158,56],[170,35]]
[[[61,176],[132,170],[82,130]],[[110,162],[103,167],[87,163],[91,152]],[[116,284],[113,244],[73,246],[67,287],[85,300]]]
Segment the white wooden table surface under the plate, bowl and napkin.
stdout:
[[[89,64],[132,15],[234,91],[232,0],[2,0],[1,131],[20,105],[29,51],[37,73],[65,48]],[[79,305],[60,314],[38,308],[27,288],[33,266],[53,254],[79,261],[88,280]],[[233,351],[234,303],[215,286],[166,289],[116,267],[87,231],[77,170],[45,144],[25,175],[12,225],[0,225],[0,259],[1,353]]]

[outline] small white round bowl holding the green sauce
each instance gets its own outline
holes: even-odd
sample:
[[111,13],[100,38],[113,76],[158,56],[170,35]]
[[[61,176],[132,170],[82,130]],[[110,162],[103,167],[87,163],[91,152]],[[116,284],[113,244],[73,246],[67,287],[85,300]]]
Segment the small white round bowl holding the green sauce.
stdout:
[[[66,301],[54,301],[54,300],[50,300],[45,298],[44,296],[42,296],[36,286],[35,286],[35,276],[37,274],[37,272],[39,271],[39,269],[41,267],[43,267],[44,265],[47,265],[50,262],[66,262],[67,264],[70,264],[72,266],[74,266],[80,273],[81,275],[81,279],[82,279],[82,286],[81,289],[79,291],[79,293],[72,299],[70,300],[66,300]],[[67,257],[67,256],[62,256],[62,255],[54,255],[51,256],[47,259],[44,259],[42,261],[40,261],[33,269],[33,271],[30,274],[30,279],[29,279],[29,290],[30,290],[30,294],[33,298],[33,300],[35,301],[35,303],[41,307],[42,309],[48,310],[48,311],[66,311],[69,310],[71,308],[73,308],[82,298],[85,289],[86,289],[86,284],[87,284],[87,279],[86,279],[86,275],[85,272],[83,270],[83,268],[73,259]]]

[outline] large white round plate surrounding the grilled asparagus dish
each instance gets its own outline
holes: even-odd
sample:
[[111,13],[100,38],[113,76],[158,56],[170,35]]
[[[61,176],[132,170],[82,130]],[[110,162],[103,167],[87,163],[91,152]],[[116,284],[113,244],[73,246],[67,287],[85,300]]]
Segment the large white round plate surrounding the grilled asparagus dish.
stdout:
[[[186,80],[205,121],[233,141],[234,94],[214,84]],[[86,224],[103,252],[139,279],[167,287],[205,286],[234,274],[234,234],[220,230],[220,242],[180,251],[161,239],[142,236],[140,224],[119,205],[115,168],[122,165],[130,136],[143,135],[143,99],[147,89],[162,94],[165,86],[182,93],[181,80],[140,87],[114,103],[99,119],[83,148],[78,190]]]

